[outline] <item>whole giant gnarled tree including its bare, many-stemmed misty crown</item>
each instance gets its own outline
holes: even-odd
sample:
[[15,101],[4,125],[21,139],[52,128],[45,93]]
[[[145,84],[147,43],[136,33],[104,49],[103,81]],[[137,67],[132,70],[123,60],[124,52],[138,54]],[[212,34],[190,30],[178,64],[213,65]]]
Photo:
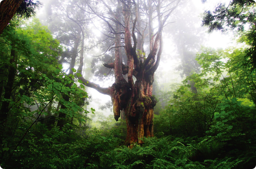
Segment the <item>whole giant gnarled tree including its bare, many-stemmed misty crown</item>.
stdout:
[[[114,69],[115,82],[112,86],[103,88],[80,75],[78,79],[82,84],[112,98],[116,121],[121,110],[124,111],[127,145],[132,142],[141,144],[141,138],[154,135],[153,109],[156,100],[152,96],[152,84],[163,50],[162,30],[179,2],[180,0],[119,0],[88,4],[92,15],[90,18],[98,17],[104,21],[109,27],[109,34],[105,35],[114,40],[109,49],[115,49],[115,61],[104,66]],[[105,7],[107,14],[97,7]],[[122,48],[125,55],[122,55]],[[127,58],[127,64],[124,64],[123,58]]]

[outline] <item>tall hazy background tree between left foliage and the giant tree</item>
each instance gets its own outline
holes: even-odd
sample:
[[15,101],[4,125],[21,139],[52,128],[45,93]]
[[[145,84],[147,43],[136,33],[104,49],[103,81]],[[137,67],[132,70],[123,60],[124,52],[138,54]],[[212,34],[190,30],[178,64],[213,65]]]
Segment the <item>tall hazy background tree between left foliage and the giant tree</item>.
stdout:
[[[67,75],[74,81],[74,73],[81,75],[84,66],[86,16],[80,8],[85,7],[86,4],[81,1],[79,2],[80,8],[78,8],[75,6],[78,3],[77,0],[67,1],[67,3],[68,5],[61,5],[61,1],[55,1],[48,4],[47,24],[61,45],[65,47],[58,62],[68,67]],[[77,67],[77,63],[79,67]],[[71,86],[71,84],[69,85]],[[84,88],[83,85],[80,87]],[[70,93],[66,93],[63,98],[65,101],[69,101],[70,96]],[[85,100],[79,102],[81,106],[85,104]],[[61,105],[61,109],[66,109],[64,104]],[[59,113],[57,126],[63,128],[68,120],[69,117],[65,113]]]

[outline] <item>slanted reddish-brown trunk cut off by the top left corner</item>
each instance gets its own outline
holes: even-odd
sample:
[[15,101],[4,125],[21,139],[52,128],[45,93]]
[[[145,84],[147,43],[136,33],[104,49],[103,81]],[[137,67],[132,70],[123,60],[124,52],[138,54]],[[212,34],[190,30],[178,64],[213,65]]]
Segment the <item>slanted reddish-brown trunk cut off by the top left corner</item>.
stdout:
[[24,0],[3,0],[0,3],[0,34]]

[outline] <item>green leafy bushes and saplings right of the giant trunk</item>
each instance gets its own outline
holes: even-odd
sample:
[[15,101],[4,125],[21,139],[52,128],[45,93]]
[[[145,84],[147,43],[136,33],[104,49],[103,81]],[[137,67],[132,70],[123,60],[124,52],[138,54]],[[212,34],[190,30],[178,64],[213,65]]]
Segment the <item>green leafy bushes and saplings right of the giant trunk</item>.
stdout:
[[244,55],[205,49],[197,56],[201,73],[187,78],[198,92],[183,81],[155,116],[156,136],[182,137],[194,148],[189,160],[202,168],[255,167],[255,72],[243,66]]

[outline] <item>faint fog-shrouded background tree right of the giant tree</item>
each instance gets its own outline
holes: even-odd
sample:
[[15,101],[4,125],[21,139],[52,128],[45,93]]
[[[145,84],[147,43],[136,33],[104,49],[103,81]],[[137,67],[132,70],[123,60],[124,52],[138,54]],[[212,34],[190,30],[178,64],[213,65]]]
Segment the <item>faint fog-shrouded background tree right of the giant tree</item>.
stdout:
[[[191,8],[186,9],[185,6],[189,5]],[[187,1],[178,7],[176,15],[174,16],[175,22],[169,27],[170,36],[176,45],[177,54],[181,59],[181,65],[177,67],[181,71],[181,77],[189,77],[194,72],[199,73],[199,64],[195,60],[196,54],[200,51],[201,44],[204,41],[204,29],[199,27],[196,23],[200,20],[197,16],[190,16],[193,13],[195,4],[192,1]],[[188,81],[191,90],[197,92],[193,81]]]

